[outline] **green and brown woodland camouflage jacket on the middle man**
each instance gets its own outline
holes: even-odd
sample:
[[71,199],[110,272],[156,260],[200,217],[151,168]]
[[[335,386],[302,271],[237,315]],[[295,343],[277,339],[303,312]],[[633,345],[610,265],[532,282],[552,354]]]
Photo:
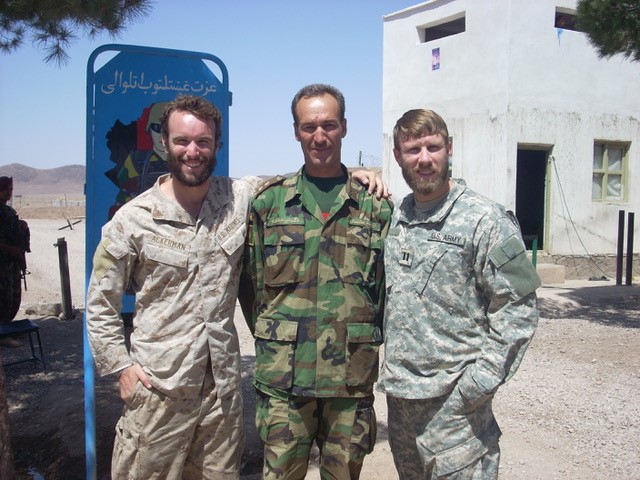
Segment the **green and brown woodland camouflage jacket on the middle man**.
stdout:
[[259,390],[279,398],[372,393],[391,208],[349,176],[323,219],[302,169],[256,196],[240,302]]

